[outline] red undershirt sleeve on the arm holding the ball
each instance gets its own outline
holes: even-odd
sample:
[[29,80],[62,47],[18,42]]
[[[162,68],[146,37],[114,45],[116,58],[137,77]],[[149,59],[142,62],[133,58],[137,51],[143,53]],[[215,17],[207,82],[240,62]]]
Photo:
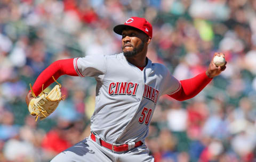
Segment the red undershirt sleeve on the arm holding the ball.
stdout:
[[194,78],[181,80],[181,89],[173,95],[168,96],[179,101],[193,98],[201,92],[211,80],[212,78],[209,78],[205,72],[195,76]]

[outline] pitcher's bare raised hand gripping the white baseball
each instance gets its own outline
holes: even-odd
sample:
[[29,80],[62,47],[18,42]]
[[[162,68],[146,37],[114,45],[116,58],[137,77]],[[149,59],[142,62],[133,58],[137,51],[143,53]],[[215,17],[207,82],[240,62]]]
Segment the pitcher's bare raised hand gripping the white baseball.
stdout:
[[[223,53],[215,53],[214,56],[222,56],[225,58],[225,54]],[[214,57],[213,56],[213,57]],[[206,71],[206,75],[209,77],[209,78],[213,78],[215,76],[218,76],[222,71],[224,71],[226,69],[226,64],[227,62],[223,65],[223,66],[216,66],[214,63],[213,63],[213,57],[212,57],[212,60],[211,60],[211,63]]]

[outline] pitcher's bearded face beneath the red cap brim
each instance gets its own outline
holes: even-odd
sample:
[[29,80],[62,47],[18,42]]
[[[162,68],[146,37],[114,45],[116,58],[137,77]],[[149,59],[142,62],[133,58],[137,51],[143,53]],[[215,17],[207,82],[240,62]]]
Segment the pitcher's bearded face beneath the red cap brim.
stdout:
[[134,29],[123,30],[122,32],[122,49],[124,56],[131,57],[142,52],[145,48],[147,35]]

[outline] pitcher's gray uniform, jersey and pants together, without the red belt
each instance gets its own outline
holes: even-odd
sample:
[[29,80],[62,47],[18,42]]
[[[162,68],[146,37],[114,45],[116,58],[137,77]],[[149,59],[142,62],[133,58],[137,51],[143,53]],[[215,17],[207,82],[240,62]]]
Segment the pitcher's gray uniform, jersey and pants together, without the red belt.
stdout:
[[[127,62],[123,53],[75,58],[74,67],[79,76],[93,76],[97,80],[91,130],[98,138],[112,144],[144,142],[159,96],[180,89],[180,82],[164,65],[151,63],[148,59],[141,71]],[[130,145],[125,154],[100,144],[86,138],[61,152],[51,162],[154,161],[145,144],[135,148]]]

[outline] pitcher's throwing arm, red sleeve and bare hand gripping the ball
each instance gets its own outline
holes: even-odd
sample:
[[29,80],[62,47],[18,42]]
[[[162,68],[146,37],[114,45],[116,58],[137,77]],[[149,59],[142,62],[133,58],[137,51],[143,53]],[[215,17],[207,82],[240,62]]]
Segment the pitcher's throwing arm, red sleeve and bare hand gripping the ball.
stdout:
[[[214,56],[224,56],[222,53],[215,53]],[[213,57],[214,57],[213,56]],[[225,56],[224,56],[225,57]],[[213,59],[211,60],[211,63],[207,69],[206,72],[203,72],[194,78],[181,80],[180,81],[180,90],[175,92],[172,95],[168,95],[174,99],[177,99],[179,101],[183,101],[186,99],[190,99],[195,97],[199,92],[201,92],[207,84],[211,82],[211,80],[218,76],[222,71],[226,69],[226,64],[223,66],[216,66],[213,63]]]

